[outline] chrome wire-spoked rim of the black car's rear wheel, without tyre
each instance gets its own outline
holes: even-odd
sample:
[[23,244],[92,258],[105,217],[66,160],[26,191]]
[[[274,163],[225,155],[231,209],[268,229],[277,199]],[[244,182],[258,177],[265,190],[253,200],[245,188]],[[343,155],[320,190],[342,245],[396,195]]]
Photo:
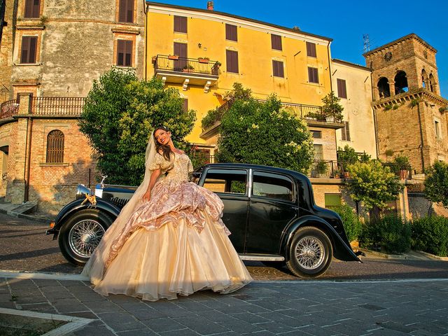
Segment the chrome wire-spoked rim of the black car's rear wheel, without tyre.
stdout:
[[295,259],[304,269],[320,267],[325,260],[325,247],[322,241],[317,237],[302,237],[295,246]]

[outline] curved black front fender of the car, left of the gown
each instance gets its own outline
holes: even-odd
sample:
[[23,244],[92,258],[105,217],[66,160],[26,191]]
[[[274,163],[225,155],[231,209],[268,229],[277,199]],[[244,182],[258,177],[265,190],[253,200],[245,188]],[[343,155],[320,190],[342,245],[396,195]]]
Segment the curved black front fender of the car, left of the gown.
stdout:
[[113,220],[115,220],[118,214],[120,214],[120,209],[118,207],[110,202],[106,202],[98,198],[95,205],[92,205],[89,202],[84,202],[83,204],[83,202],[84,200],[75,200],[73,202],[70,202],[69,204],[66,204],[66,206],[63,207],[61,211],[59,211],[59,214],[57,214],[55,225],[53,226],[53,228],[47,230],[47,235],[54,234],[53,239],[57,238],[59,230],[61,229],[62,225],[64,225],[65,221],[72,214],[83,209],[98,209],[99,211],[104,211],[104,213],[108,214],[109,217],[111,217]]

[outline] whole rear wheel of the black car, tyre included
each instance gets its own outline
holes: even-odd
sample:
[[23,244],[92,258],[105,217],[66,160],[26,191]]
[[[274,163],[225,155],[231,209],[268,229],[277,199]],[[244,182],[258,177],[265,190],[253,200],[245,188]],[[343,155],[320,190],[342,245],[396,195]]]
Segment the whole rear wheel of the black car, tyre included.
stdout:
[[290,258],[286,262],[295,276],[314,278],[328,269],[332,246],[328,236],[314,227],[300,228],[290,244]]

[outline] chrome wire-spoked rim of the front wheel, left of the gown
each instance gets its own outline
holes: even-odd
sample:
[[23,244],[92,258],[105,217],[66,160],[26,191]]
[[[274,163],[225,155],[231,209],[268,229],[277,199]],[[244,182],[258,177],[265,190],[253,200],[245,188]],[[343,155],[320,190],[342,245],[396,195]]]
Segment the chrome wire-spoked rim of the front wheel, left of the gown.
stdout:
[[69,231],[69,246],[76,255],[89,258],[104,235],[103,226],[91,219],[75,223]]

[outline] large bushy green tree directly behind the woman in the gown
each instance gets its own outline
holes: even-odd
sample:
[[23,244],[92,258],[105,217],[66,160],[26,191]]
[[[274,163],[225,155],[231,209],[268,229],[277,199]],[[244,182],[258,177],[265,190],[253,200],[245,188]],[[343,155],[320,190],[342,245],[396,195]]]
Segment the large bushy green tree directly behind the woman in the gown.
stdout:
[[176,146],[193,128],[195,111],[183,111],[183,99],[160,80],[138,80],[133,71],[112,68],[94,80],[79,120],[94,149],[93,158],[109,183],[138,185],[144,177],[149,134],[158,125],[172,132]]

